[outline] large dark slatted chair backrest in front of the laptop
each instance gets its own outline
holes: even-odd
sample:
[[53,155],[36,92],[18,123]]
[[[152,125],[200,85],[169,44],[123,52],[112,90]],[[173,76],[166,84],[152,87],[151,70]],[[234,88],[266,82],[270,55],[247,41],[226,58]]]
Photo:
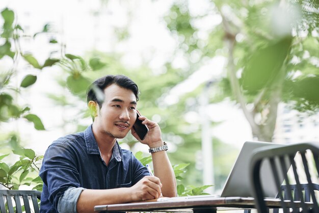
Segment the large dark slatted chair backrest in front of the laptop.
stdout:
[[[251,160],[251,182],[259,213],[267,212],[263,189],[260,182],[260,167],[262,162],[269,161],[272,176],[280,198],[283,212],[319,212],[317,201],[319,146],[313,143],[293,144],[285,147],[265,147],[256,150]],[[289,170],[289,166],[291,168]],[[289,172],[288,172],[289,171]],[[282,182],[279,176],[284,176],[286,192],[282,193]],[[288,190],[290,189],[290,190]],[[294,193],[293,193],[294,192]],[[284,195],[283,195],[284,194]],[[304,196],[302,196],[304,194]],[[309,201],[313,203],[310,205]]]

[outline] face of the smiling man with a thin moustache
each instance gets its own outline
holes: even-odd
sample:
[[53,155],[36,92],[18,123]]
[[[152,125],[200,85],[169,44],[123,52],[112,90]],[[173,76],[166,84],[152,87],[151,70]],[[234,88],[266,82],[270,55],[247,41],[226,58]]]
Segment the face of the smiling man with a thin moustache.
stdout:
[[137,100],[131,90],[112,84],[104,89],[105,99],[101,109],[97,107],[94,122],[100,132],[113,138],[124,138],[135,120]]

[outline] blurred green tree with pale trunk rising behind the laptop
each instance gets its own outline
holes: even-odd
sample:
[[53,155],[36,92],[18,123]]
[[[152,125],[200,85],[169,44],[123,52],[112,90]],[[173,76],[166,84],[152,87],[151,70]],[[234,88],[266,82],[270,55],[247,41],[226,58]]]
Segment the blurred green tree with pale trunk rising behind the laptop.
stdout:
[[317,111],[318,1],[203,1],[201,12],[188,4],[176,1],[164,17],[176,51],[190,62],[189,72],[227,57],[219,100],[238,103],[254,138],[272,141],[280,101]]

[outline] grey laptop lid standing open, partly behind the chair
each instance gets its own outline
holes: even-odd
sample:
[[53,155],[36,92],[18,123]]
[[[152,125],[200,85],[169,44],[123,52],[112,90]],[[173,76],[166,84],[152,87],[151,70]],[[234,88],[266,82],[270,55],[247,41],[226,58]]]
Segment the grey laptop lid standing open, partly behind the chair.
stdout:
[[[253,150],[263,146],[282,147],[285,146],[285,144],[257,141],[245,142],[230,174],[228,175],[221,197],[253,197],[249,177],[250,159],[253,155]],[[276,189],[276,184],[271,176],[270,163],[263,162],[260,172],[265,197],[275,198],[278,190]],[[280,176],[283,181],[283,175]]]

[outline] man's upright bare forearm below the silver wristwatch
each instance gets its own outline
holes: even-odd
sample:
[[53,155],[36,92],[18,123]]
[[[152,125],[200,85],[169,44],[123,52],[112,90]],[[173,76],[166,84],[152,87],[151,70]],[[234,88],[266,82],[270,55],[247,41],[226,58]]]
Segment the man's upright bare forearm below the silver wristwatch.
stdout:
[[152,153],[154,175],[161,180],[163,184],[162,194],[165,197],[176,197],[176,179],[171,162],[166,151]]

